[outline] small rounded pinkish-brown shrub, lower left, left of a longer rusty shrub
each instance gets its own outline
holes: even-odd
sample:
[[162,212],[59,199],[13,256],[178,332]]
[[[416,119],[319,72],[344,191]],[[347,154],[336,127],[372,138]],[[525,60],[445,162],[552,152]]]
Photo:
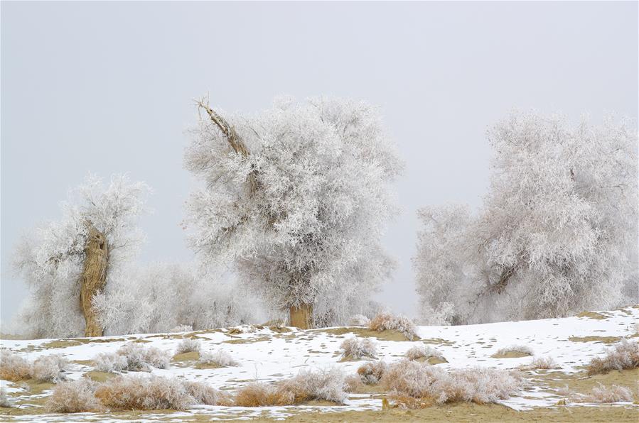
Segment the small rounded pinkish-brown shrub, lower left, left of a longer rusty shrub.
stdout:
[[60,383],[48,397],[45,410],[58,413],[102,411],[104,406],[94,396],[96,386],[86,378]]

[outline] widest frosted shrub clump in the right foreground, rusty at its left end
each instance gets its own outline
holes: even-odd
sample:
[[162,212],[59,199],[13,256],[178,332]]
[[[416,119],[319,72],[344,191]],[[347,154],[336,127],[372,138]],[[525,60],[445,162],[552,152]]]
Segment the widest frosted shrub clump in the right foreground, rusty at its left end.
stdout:
[[[485,404],[506,400],[520,390],[520,380],[505,370],[473,368],[447,372],[417,361],[402,360],[388,366],[382,386],[394,395],[419,401],[412,405],[445,402]],[[405,404],[409,407],[409,404]]]

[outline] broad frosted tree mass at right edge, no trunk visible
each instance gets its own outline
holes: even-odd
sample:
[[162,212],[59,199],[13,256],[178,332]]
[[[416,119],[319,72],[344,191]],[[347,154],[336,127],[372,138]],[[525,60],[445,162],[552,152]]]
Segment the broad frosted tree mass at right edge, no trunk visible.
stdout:
[[637,283],[635,128],[514,113],[488,138],[490,192],[478,214],[421,212],[414,267],[424,314],[440,307],[447,322],[483,322],[624,302],[624,282]]

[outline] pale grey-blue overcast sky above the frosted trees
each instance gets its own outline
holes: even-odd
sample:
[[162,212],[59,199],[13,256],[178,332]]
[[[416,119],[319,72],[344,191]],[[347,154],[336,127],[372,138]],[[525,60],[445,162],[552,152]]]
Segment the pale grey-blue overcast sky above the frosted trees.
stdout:
[[11,250],[87,172],[154,189],[140,260],[188,261],[179,223],[192,99],[257,111],[277,94],[382,107],[406,160],[399,260],[379,299],[414,315],[416,210],[488,186],[488,125],[513,107],[638,114],[638,3],[1,4],[1,319],[26,297]]

